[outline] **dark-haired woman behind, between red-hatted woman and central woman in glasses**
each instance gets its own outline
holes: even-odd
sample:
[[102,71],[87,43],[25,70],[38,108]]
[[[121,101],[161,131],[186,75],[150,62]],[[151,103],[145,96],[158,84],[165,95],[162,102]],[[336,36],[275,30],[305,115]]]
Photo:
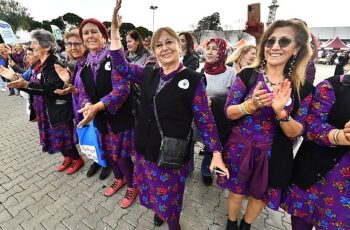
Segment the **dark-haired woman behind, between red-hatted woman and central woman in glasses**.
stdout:
[[136,30],[126,33],[127,59],[134,64],[145,66],[152,53],[145,47],[141,34]]

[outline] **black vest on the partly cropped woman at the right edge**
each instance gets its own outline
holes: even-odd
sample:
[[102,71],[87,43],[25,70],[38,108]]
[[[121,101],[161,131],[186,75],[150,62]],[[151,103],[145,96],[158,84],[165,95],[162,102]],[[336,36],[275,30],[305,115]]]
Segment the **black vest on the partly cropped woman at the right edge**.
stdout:
[[[343,86],[339,76],[327,80],[332,84],[336,96],[327,122],[342,129],[350,117],[350,87]],[[328,147],[304,141],[294,159],[293,183],[306,190],[333,169],[349,150],[349,146]]]

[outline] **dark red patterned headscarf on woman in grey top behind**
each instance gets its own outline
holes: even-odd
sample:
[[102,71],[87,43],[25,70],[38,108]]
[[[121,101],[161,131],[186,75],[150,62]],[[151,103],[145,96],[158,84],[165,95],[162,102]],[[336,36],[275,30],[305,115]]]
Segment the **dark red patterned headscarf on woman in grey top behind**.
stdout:
[[204,63],[204,72],[211,75],[221,74],[226,71],[226,59],[227,59],[227,51],[226,51],[226,41],[219,37],[214,37],[207,42],[209,45],[210,42],[215,42],[218,46],[218,57],[215,63]]

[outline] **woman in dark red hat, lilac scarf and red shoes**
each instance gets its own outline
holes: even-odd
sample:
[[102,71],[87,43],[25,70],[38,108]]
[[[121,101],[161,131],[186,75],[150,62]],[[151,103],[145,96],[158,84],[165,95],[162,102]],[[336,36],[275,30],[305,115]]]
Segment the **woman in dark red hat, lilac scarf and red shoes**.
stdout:
[[[127,184],[126,193],[120,202],[121,208],[129,207],[137,191],[133,186],[134,118],[131,110],[130,85],[111,72],[109,47],[106,45],[106,27],[94,18],[85,19],[79,27],[89,53],[80,73],[80,113],[84,119],[78,128],[94,119],[98,129],[104,158],[111,165],[114,180],[104,195],[112,196]],[[113,76],[113,77],[112,77]],[[119,84],[116,86],[116,84]]]

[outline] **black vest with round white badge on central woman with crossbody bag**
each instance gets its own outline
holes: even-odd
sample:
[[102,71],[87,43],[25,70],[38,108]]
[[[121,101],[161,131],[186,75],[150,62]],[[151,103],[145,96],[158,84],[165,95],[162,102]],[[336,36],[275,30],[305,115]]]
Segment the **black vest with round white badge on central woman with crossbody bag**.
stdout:
[[[201,74],[184,69],[157,94],[157,114],[165,136],[187,138],[193,120],[192,102],[201,78]],[[136,150],[151,162],[157,161],[161,144],[153,108],[153,96],[159,80],[159,69],[145,69],[141,85],[140,113],[135,127]],[[180,87],[184,82],[187,82],[188,87]],[[185,160],[190,160],[189,151]]]

